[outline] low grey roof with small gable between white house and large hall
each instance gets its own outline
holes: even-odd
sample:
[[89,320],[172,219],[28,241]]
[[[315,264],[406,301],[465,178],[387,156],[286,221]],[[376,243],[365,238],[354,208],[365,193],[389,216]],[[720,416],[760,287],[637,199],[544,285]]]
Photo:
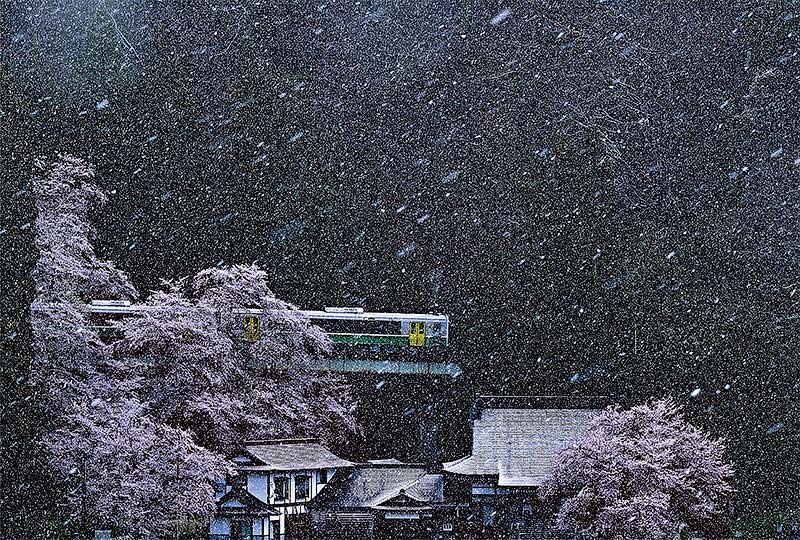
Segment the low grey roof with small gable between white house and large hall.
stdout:
[[317,495],[314,505],[328,508],[377,508],[401,494],[421,503],[442,501],[442,475],[423,465],[368,464],[353,469]]

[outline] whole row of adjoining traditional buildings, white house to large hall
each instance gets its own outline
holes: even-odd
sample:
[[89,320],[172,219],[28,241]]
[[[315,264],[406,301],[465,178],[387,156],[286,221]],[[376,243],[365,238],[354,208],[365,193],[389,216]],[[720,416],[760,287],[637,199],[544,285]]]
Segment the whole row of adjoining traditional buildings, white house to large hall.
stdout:
[[603,398],[481,397],[469,455],[353,463],[314,439],[250,441],[220,490],[211,540],[553,540],[539,490]]

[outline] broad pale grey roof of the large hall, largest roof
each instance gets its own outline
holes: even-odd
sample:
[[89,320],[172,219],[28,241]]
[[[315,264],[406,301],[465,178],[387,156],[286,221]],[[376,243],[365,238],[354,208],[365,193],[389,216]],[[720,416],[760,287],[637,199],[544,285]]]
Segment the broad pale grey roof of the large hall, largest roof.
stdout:
[[538,486],[558,452],[577,442],[594,409],[484,409],[473,425],[472,454],[444,464],[460,475],[497,476],[500,486]]

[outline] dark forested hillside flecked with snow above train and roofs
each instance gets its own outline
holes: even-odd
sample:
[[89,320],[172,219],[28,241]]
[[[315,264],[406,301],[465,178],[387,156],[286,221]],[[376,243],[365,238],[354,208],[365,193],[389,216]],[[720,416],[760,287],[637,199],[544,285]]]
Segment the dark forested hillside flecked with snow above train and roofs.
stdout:
[[672,395],[797,508],[797,2],[18,6],[35,153],[140,290],[447,313],[469,397]]

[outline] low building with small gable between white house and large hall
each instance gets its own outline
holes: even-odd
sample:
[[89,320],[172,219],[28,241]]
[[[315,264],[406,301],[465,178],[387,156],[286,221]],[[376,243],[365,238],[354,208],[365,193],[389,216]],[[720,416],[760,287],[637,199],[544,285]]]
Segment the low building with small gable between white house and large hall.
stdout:
[[310,538],[432,538],[441,528],[443,478],[424,465],[375,460],[340,474],[310,505]]

